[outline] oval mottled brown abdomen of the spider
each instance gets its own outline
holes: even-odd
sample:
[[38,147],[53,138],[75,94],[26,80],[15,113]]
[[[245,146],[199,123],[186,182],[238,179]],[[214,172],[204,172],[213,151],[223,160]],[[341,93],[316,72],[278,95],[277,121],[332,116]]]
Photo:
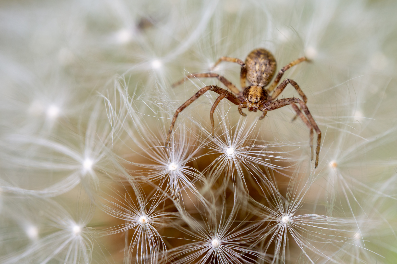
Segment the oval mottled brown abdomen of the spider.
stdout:
[[247,80],[254,86],[264,87],[269,84],[276,71],[276,60],[266,49],[254,49],[245,59]]

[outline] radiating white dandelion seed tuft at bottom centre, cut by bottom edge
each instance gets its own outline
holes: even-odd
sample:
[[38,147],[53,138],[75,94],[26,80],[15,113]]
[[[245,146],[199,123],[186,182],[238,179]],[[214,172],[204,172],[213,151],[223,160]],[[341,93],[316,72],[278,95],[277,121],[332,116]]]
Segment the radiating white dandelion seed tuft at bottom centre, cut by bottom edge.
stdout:
[[[185,234],[193,237],[191,243],[175,247],[168,251],[169,258],[179,258],[175,264],[183,263],[264,263],[265,254],[253,250],[260,228],[256,224],[247,225],[244,221],[238,221],[236,214],[241,205],[234,204],[231,212],[225,211],[225,203],[223,207],[217,208],[215,204],[208,204],[200,212],[201,221],[182,211],[184,219],[188,227],[179,227],[178,229]],[[220,218],[217,215],[222,215]],[[236,226],[237,224],[237,226]],[[182,238],[182,237],[179,237]],[[190,240],[183,237],[184,240]],[[222,246],[221,246],[222,245]],[[247,257],[249,261],[245,257]],[[254,260],[257,260],[255,262]]]

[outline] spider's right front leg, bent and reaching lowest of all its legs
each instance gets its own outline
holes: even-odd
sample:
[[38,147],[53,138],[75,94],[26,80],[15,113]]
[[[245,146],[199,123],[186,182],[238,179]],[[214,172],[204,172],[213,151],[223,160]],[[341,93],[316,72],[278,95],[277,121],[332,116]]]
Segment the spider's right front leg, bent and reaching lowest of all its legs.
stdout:
[[[291,104],[292,108],[295,110],[297,115],[302,119],[303,123],[305,123],[305,125],[310,129],[310,141],[312,141],[313,138],[313,129],[317,133],[317,148],[316,148],[316,161],[315,161],[315,168],[317,168],[318,154],[320,153],[321,131],[320,128],[318,128],[317,123],[314,121],[312,114],[310,114],[306,104],[301,99],[291,97],[291,98],[279,99],[277,101],[274,101],[273,103],[266,106],[266,108],[269,111],[271,111],[286,106],[288,104]],[[307,118],[303,115],[303,113],[296,104],[299,104],[301,106]],[[310,144],[312,143],[310,142]]]

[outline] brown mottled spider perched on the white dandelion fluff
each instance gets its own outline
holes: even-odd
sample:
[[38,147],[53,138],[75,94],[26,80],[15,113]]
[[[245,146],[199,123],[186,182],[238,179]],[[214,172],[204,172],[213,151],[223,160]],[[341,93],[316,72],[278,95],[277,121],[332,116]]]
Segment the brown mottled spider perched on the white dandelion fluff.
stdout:
[[[198,90],[198,92],[195,93],[195,95],[193,95],[189,100],[187,100],[176,110],[172,118],[170,130],[168,131],[165,147],[167,147],[168,143],[170,142],[171,132],[175,124],[176,118],[178,117],[178,114],[187,106],[189,106],[189,104],[193,103],[193,101],[195,101],[198,97],[200,97],[200,95],[203,95],[206,91],[214,91],[218,93],[219,96],[215,100],[210,111],[212,137],[214,137],[214,111],[216,106],[219,104],[219,102],[224,98],[228,99],[233,104],[237,104],[239,106],[238,107],[239,113],[243,116],[247,116],[247,115],[243,113],[242,108],[248,108],[249,111],[254,111],[254,112],[256,112],[259,109],[260,111],[262,111],[262,116],[260,116],[259,118],[260,120],[266,116],[268,110],[269,111],[275,110],[290,104],[292,108],[295,110],[297,116],[299,116],[303,120],[303,123],[305,123],[305,125],[310,129],[310,152],[311,152],[312,160],[313,160],[313,129],[317,133],[317,148],[316,148],[316,163],[315,163],[315,167],[317,168],[318,154],[320,153],[321,131],[318,128],[318,125],[314,121],[313,116],[310,114],[306,106],[307,97],[306,95],[304,95],[303,91],[294,80],[285,79],[283,82],[281,82],[280,85],[278,85],[281,77],[283,76],[286,70],[288,70],[294,65],[297,65],[298,63],[301,63],[302,61],[307,61],[307,59],[305,57],[301,57],[281,68],[281,70],[278,72],[276,76],[276,79],[274,79],[274,82],[267,89],[265,89],[264,87],[266,87],[266,85],[269,84],[269,82],[272,80],[274,76],[274,73],[276,71],[276,59],[274,59],[272,53],[270,53],[266,49],[262,49],[262,48],[254,49],[253,51],[251,51],[251,53],[249,53],[247,59],[245,59],[245,63],[243,63],[243,61],[237,58],[221,57],[215,63],[214,67],[222,61],[239,63],[241,65],[240,83],[243,91],[239,91],[239,89],[237,89],[237,87],[234,84],[226,80],[225,77],[215,73],[191,74],[183,78],[181,81],[173,84],[173,86],[179,85],[183,83],[185,80],[187,80],[187,78],[214,77],[214,78],[218,78],[218,80],[220,80],[222,84],[224,84],[228,89],[230,89],[236,95],[233,95],[233,93],[225,89],[222,89],[221,87],[218,87],[216,85],[208,85]],[[249,82],[248,86],[245,85],[246,80],[248,80]],[[302,97],[302,100],[299,98],[290,97],[290,98],[283,98],[274,101],[284,90],[284,88],[287,86],[288,83],[290,83],[293,87],[295,87],[299,95]],[[277,88],[274,89],[276,86]],[[273,93],[272,95],[269,96],[269,93],[271,91],[273,91]],[[296,104],[299,104],[301,106],[301,109],[299,109],[299,107]],[[303,115],[301,110],[303,110],[306,116]]]

